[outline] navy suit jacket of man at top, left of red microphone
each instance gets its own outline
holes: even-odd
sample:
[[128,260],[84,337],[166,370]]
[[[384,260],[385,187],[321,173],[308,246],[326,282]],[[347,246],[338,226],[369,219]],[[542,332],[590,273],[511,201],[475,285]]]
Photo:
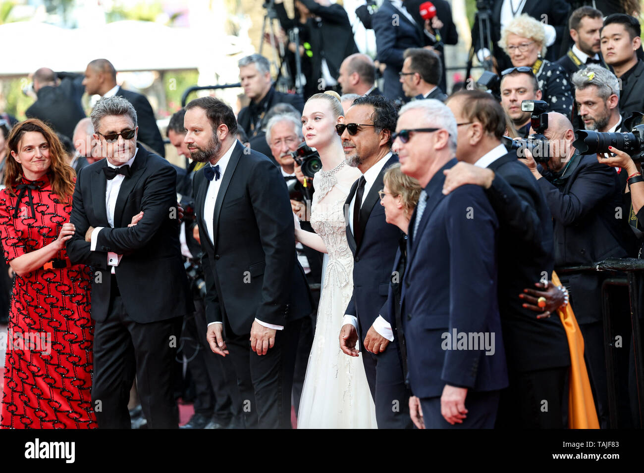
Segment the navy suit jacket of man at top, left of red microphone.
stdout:
[[403,70],[403,54],[407,48],[422,48],[426,35],[421,26],[410,21],[389,0],[372,17],[378,60],[386,64],[383,73],[383,94],[390,100],[406,98],[398,73]]

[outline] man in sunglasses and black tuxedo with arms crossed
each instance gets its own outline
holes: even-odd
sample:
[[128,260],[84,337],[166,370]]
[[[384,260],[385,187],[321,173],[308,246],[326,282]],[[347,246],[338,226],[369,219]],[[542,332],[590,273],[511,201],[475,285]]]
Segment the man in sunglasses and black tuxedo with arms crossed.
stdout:
[[147,425],[176,429],[173,340],[182,317],[194,311],[179,243],[176,171],[137,145],[137,113],[126,98],[101,98],[91,122],[105,159],[79,171],[67,253],[93,271],[97,421],[100,428],[130,428],[137,376]]

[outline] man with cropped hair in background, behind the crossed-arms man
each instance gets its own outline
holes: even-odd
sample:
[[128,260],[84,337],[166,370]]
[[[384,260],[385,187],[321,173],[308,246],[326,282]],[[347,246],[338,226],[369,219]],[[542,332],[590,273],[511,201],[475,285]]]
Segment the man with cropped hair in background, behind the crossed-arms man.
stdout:
[[140,93],[126,90],[117,84],[117,70],[107,59],[94,59],[87,65],[82,81],[89,95],[126,98],[137,111],[137,140],[149,146],[156,154],[166,157],[166,149],[150,102]]

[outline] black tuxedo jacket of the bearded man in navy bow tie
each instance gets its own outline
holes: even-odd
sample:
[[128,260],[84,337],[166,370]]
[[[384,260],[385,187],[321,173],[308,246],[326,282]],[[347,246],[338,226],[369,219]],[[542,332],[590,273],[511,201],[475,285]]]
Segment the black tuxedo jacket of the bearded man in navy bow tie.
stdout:
[[[296,258],[293,212],[279,169],[236,142],[221,179],[213,215],[204,215],[210,183],[204,168],[193,180],[207,321],[224,322],[224,329],[244,335],[254,319],[285,326],[307,316],[310,292]],[[213,219],[214,243],[207,218]]]

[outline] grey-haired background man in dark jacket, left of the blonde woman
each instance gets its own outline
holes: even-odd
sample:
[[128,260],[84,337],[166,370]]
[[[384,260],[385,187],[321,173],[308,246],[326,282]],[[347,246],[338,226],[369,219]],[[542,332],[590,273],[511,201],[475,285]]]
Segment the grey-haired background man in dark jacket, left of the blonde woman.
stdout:
[[302,113],[304,100],[301,95],[281,93],[275,90],[270,77],[269,60],[260,54],[251,54],[239,60],[240,82],[251,103],[243,107],[237,122],[248,134],[251,148],[267,153],[265,140],[265,116],[276,104],[291,104]]

